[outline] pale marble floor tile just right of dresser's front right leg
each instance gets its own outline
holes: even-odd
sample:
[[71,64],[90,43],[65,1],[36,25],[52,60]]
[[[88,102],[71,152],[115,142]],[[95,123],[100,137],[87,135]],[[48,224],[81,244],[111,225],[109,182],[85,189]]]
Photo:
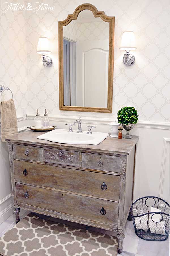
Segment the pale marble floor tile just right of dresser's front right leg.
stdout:
[[124,235],[125,238],[123,240],[123,250],[136,254],[139,237],[137,237],[135,231],[130,228],[125,228]]

